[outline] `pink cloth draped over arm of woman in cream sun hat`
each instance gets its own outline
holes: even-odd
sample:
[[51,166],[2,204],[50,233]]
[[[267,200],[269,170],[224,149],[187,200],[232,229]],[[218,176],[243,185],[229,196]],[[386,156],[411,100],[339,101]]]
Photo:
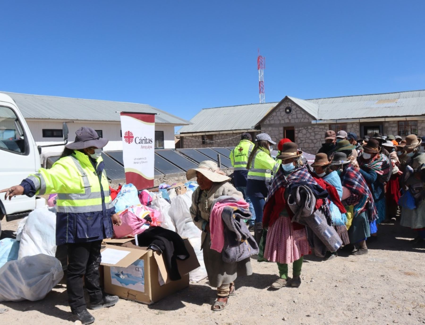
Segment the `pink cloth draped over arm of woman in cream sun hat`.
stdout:
[[224,200],[217,202],[211,208],[210,214],[210,236],[211,236],[211,249],[216,250],[218,253],[221,253],[224,247],[224,222],[221,219],[221,213],[223,212],[224,207],[238,207],[248,209],[249,204],[246,203],[243,199],[239,201],[228,201]]

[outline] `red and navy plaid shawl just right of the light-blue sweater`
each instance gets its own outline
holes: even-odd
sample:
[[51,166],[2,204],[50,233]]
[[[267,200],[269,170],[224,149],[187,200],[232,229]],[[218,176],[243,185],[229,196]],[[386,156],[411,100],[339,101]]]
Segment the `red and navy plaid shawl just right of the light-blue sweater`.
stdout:
[[373,221],[378,219],[378,210],[375,207],[372,193],[369,190],[368,184],[359,171],[355,170],[349,165],[344,171],[341,178],[343,186],[348,188],[351,193],[358,196],[367,196],[369,201],[367,203],[367,209],[369,211],[369,218]]

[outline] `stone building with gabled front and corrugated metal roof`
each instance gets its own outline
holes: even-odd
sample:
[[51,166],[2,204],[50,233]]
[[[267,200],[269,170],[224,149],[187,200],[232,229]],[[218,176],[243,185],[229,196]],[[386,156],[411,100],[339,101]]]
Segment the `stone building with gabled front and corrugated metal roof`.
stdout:
[[[301,150],[310,153],[317,152],[323,143],[325,132],[329,129],[335,132],[340,130],[356,132],[360,137],[377,132],[403,137],[411,133],[425,134],[425,90],[309,100],[286,96],[279,103],[255,104],[255,106],[261,105],[264,105],[261,112],[266,112],[252,126],[250,131],[253,134],[266,132],[275,141],[279,141],[280,138],[290,138],[300,146]],[[235,107],[243,108],[244,106],[252,105]],[[229,120],[238,116],[232,114],[232,110],[232,107],[226,107],[225,116]],[[231,140],[228,138],[231,138],[231,132],[239,135],[241,129],[228,129],[226,133],[212,132],[208,129],[208,132],[202,133],[202,115],[200,114],[198,113],[191,120],[192,125],[183,127],[180,131],[181,138],[184,138],[184,148],[207,146],[208,144],[201,143],[203,139],[218,140],[210,147],[230,147],[238,143],[239,138],[235,137]],[[238,114],[242,113],[238,112]],[[250,111],[246,112],[246,115],[249,114]],[[210,124],[210,121],[206,122],[206,125]],[[217,125],[214,126],[217,127]],[[191,139],[187,140],[188,135],[185,133],[187,129],[198,132],[191,133]],[[203,138],[207,134],[209,137]],[[226,138],[225,141],[220,141],[224,138]]]

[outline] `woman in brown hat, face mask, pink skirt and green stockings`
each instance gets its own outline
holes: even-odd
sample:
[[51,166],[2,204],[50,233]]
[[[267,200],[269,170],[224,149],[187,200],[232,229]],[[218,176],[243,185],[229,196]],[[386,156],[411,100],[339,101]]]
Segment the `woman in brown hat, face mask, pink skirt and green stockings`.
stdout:
[[[285,189],[289,185],[295,186],[297,183],[305,184],[305,182],[317,185],[303,165],[301,155],[297,144],[293,142],[283,144],[277,157],[282,160],[282,164],[273,178],[264,206],[263,227],[268,227],[264,258],[276,262],[279,269],[279,279],[272,284],[273,289],[280,289],[286,285],[299,287],[303,256],[310,253],[306,227],[291,222],[293,213],[286,204],[289,193],[285,192]],[[289,263],[293,263],[291,281],[288,279]]]

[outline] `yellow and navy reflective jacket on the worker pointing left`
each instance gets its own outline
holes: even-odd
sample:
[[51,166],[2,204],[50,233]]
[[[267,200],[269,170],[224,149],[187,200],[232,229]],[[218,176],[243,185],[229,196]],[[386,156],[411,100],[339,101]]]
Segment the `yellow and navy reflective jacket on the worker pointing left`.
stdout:
[[87,155],[75,150],[56,161],[51,169],[40,168],[28,176],[36,195],[57,193],[57,244],[112,236],[113,205],[102,157],[96,161],[96,170]]

